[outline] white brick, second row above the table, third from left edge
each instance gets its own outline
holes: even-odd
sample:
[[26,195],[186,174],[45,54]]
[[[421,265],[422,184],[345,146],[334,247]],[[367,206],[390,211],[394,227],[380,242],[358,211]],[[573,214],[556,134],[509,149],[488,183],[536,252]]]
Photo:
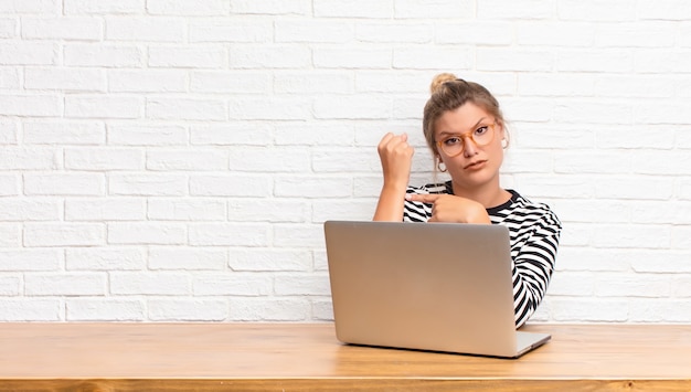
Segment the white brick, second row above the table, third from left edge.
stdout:
[[110,294],[113,295],[185,295],[191,292],[191,278],[188,274],[110,273]]

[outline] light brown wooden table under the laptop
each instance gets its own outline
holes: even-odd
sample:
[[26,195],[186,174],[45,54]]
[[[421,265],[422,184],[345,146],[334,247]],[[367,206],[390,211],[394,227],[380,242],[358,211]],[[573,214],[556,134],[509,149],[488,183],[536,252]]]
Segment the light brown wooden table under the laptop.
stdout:
[[691,391],[691,325],[532,325],[518,360],[346,346],[331,324],[0,324],[0,391]]

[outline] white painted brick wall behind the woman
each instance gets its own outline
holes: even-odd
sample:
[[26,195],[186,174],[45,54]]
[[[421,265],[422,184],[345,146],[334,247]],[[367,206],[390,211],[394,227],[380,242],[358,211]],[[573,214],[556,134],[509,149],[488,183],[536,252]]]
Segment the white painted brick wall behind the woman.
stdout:
[[564,223],[536,320],[691,322],[691,3],[4,0],[0,320],[329,320],[321,223],[438,72]]

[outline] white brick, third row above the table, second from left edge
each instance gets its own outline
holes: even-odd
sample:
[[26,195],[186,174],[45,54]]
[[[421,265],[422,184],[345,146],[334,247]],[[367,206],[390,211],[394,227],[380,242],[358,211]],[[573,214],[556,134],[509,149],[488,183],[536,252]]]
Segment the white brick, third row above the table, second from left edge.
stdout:
[[146,250],[132,247],[73,247],[65,252],[67,271],[128,271],[146,267]]

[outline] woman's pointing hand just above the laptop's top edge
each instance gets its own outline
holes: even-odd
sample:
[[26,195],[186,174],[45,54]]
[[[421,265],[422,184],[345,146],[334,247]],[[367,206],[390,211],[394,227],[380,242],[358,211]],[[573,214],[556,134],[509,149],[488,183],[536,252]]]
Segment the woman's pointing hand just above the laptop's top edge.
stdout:
[[432,204],[427,222],[491,223],[485,206],[477,201],[453,194],[407,193],[406,200]]

